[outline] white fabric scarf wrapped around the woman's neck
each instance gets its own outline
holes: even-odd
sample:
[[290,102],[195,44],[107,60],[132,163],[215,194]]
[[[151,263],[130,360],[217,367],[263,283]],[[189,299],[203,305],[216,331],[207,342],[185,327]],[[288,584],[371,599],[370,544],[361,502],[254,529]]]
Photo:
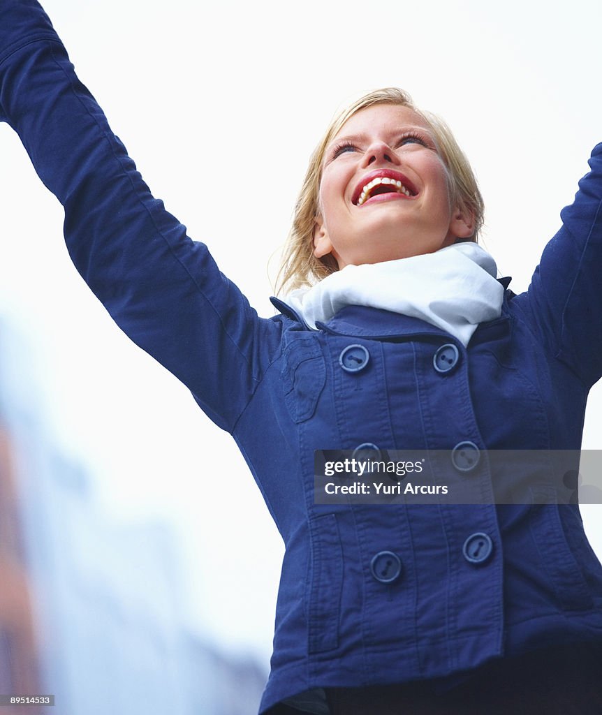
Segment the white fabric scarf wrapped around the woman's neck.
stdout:
[[480,322],[500,317],[504,289],[495,275],[493,257],[462,242],[420,256],[348,265],[284,300],[313,330],[347,305],[367,305],[421,318],[468,345]]

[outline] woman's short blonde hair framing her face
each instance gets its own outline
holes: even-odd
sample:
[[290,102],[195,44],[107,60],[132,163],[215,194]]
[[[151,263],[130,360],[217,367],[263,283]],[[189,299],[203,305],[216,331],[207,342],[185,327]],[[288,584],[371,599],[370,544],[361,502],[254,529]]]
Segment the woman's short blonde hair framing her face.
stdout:
[[314,230],[319,213],[319,192],[322,179],[322,162],[326,147],[340,132],[343,124],[360,109],[372,107],[374,104],[398,104],[408,107],[422,117],[432,129],[435,144],[443,164],[448,172],[448,188],[450,192],[450,205],[460,211],[469,212],[474,219],[473,235],[468,241],[476,242],[478,233],[483,227],[484,204],[480,195],[478,184],[470,168],[468,159],[455,141],[453,134],[445,122],[435,114],[417,109],[412,98],[403,89],[386,87],[365,94],[357,101],[342,109],[326,130],[322,141],[317,145],[310,158],[307,174],[301,192],[295,204],[292,227],[285,244],[282,256],[282,265],[277,277],[278,292],[293,290],[304,285],[314,285],[330,273],[339,270],[337,262],[328,254],[321,258],[314,255]]

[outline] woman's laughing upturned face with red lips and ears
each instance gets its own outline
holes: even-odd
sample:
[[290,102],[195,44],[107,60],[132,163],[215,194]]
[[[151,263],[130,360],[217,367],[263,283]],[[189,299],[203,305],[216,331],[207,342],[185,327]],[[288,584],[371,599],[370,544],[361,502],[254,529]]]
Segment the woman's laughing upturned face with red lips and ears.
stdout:
[[433,131],[413,109],[375,104],[353,114],[325,151],[314,255],[339,268],[432,253],[473,235],[450,205]]

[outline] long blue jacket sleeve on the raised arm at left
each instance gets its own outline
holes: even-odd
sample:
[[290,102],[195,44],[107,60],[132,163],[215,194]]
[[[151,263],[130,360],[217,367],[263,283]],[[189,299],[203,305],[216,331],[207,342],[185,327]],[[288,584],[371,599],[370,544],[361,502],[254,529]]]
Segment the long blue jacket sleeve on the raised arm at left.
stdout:
[[207,247],[152,197],[35,0],[0,0],[0,118],[63,204],[69,254],[89,287],[232,431],[277,323],[257,317]]

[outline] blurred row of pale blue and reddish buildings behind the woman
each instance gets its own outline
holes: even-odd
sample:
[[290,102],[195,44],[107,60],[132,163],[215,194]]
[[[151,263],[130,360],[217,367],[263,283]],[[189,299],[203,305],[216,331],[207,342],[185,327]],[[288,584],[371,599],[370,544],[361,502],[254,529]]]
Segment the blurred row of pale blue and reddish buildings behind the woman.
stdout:
[[0,338],[0,693],[54,694],[52,715],[257,713],[265,672],[191,631],[172,532],[99,509],[27,362]]

